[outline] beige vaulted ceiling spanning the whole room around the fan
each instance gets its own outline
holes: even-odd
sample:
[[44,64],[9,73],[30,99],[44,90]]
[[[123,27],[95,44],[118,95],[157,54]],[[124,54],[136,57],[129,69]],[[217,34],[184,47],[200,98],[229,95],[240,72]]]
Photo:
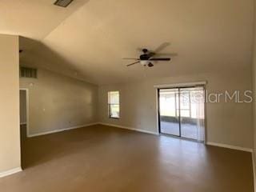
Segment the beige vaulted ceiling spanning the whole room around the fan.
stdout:
[[[0,33],[19,34],[22,65],[95,84],[250,67],[253,0],[0,1]],[[126,67],[138,48],[178,54],[153,68]]]

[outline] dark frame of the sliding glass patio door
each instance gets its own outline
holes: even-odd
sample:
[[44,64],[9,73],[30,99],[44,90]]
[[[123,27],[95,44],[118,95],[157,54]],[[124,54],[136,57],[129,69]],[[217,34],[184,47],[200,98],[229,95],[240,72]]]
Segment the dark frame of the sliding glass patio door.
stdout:
[[[205,138],[204,138],[204,143],[206,143],[206,94],[205,94],[205,90],[206,90],[206,85],[194,85],[194,86],[170,86],[170,87],[159,87],[157,88],[157,108],[158,108],[158,134],[164,134],[161,132],[161,115],[160,115],[160,90],[172,90],[172,89],[178,89],[178,126],[179,126],[179,135],[175,135],[175,134],[164,134],[164,135],[169,135],[171,137],[174,138],[182,138],[182,139],[186,139],[186,140],[192,140],[192,141],[197,141],[196,139],[193,138],[185,138],[182,137],[182,126],[181,126],[181,104],[180,104],[180,90],[181,89],[186,89],[186,88],[196,88],[196,87],[202,87],[204,90],[204,99],[205,99],[205,103],[204,103],[204,124],[205,124]],[[176,106],[176,96],[175,96],[175,106]],[[176,109],[175,109],[176,110]]]

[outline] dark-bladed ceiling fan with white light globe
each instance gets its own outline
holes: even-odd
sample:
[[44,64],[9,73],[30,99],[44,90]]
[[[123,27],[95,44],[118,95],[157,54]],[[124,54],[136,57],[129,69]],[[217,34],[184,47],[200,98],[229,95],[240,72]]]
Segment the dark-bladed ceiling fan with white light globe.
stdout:
[[153,62],[169,62],[171,58],[157,58],[157,51],[149,51],[147,49],[142,49],[143,54],[139,56],[139,58],[123,58],[129,60],[135,60],[136,62],[132,62],[126,66],[133,66],[137,63],[140,63],[142,66],[154,66]]

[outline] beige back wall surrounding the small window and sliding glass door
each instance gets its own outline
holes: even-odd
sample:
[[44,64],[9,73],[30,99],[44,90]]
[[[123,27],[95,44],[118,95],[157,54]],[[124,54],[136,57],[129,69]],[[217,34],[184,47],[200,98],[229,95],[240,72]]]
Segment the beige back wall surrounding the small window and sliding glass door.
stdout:
[[[251,90],[250,70],[219,71],[216,74],[196,74],[186,77],[146,79],[142,82],[100,86],[98,90],[99,121],[158,132],[156,90],[154,85],[178,82],[207,81],[209,93],[225,90]],[[107,91],[120,90],[120,119],[108,118]],[[207,103],[206,133],[208,142],[252,148],[251,103]]]

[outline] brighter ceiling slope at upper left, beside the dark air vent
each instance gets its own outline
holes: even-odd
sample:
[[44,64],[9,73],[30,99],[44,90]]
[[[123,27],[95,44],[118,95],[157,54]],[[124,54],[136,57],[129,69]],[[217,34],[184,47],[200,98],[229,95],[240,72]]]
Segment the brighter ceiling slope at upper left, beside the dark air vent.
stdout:
[[75,0],[67,8],[55,0],[0,1],[0,34],[18,34],[40,40],[89,0]]

